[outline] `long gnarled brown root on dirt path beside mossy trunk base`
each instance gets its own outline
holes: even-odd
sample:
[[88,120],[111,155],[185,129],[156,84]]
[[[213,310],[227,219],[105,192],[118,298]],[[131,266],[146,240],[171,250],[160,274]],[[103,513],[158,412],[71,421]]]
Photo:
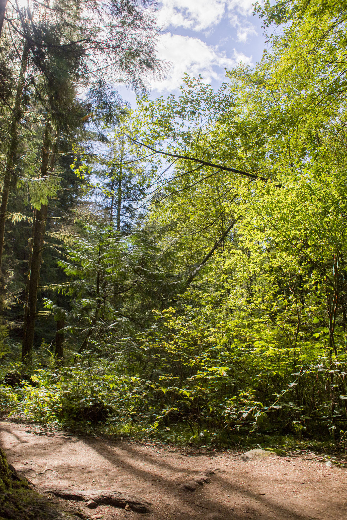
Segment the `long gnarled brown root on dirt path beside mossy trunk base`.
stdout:
[[150,502],[136,496],[126,495],[114,489],[79,491],[75,489],[50,488],[47,492],[53,493],[66,500],[83,500],[88,508],[96,508],[98,504],[113,505],[115,508],[133,510],[137,513],[150,513]]

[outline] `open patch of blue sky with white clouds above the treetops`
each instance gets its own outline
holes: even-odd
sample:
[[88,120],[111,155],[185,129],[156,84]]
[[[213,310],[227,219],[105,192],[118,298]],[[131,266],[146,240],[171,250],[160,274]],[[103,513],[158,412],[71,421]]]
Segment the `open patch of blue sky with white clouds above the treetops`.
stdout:
[[[151,97],[178,92],[185,72],[218,88],[224,69],[240,60],[254,66],[264,48],[261,20],[252,15],[254,0],[162,0],[157,13],[162,27],[158,52],[170,62],[162,82],[152,82]],[[135,105],[130,90],[119,89]]]

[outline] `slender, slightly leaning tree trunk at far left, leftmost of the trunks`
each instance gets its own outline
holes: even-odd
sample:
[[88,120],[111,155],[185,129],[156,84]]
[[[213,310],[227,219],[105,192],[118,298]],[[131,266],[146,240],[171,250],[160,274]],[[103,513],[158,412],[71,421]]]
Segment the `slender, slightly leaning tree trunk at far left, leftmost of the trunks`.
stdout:
[[[1,0],[0,0],[1,1]],[[1,23],[1,20],[0,20]],[[22,63],[19,72],[18,84],[17,84],[17,92],[16,92],[16,100],[15,100],[15,108],[12,115],[11,129],[10,129],[10,142],[7,150],[6,157],[6,165],[5,165],[5,174],[4,174],[4,185],[2,190],[1,197],[1,205],[0,205],[0,276],[1,276],[1,264],[2,264],[2,256],[3,256],[3,248],[4,248],[4,236],[5,236],[5,222],[6,222],[6,211],[7,211],[7,201],[8,195],[10,191],[11,184],[11,172],[12,167],[15,162],[15,155],[17,150],[17,130],[18,123],[20,119],[20,105],[23,94],[23,86],[24,86],[24,75],[27,70],[28,65],[28,57],[29,57],[29,46],[28,43],[24,43],[23,55],[22,55]]]

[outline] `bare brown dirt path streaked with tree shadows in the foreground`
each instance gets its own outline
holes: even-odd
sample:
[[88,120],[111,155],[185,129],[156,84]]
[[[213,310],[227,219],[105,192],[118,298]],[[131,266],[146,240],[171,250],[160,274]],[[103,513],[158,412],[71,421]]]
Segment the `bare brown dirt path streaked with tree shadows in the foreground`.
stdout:
[[[50,487],[117,489],[151,502],[151,513],[70,502],[104,520],[243,519],[313,520],[347,517],[347,469],[326,466],[309,453],[243,462],[233,452],[192,452],[83,437],[37,424],[0,422],[0,445],[8,462],[45,493]],[[211,483],[194,492],[178,486],[219,467]],[[62,501],[62,499],[55,499]]]

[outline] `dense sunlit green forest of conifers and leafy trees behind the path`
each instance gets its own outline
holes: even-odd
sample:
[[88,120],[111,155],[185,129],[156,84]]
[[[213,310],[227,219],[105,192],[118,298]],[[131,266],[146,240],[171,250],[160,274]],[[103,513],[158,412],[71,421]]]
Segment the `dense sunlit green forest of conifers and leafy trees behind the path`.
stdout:
[[0,2],[6,417],[346,446],[347,2],[253,10],[254,68],[153,98],[152,0]]

